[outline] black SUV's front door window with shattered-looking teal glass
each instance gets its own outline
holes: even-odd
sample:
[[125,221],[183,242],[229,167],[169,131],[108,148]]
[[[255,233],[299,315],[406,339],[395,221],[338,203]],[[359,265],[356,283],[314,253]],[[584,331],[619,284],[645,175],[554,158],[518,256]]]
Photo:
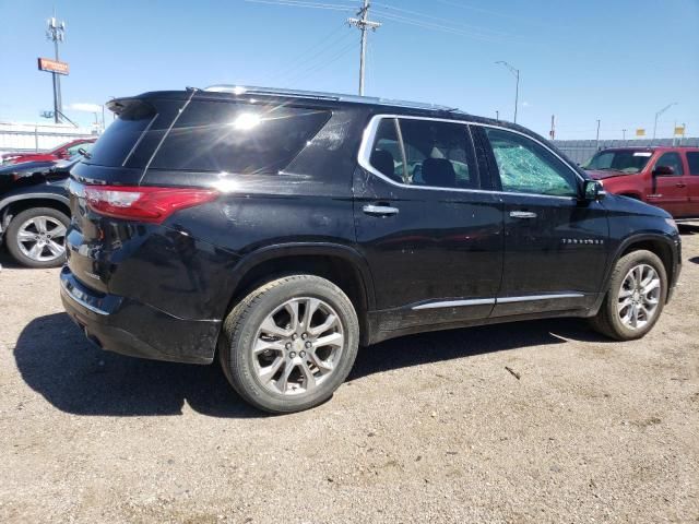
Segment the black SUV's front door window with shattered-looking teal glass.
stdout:
[[574,196],[574,172],[548,150],[521,134],[486,128],[502,191]]

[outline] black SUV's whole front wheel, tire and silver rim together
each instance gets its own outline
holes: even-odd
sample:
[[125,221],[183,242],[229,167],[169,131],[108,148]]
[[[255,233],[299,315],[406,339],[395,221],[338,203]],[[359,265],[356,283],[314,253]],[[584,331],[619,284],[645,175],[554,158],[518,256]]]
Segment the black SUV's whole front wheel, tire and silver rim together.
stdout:
[[657,322],[666,300],[662,261],[650,251],[632,251],[617,261],[592,327],[617,341],[641,338]]

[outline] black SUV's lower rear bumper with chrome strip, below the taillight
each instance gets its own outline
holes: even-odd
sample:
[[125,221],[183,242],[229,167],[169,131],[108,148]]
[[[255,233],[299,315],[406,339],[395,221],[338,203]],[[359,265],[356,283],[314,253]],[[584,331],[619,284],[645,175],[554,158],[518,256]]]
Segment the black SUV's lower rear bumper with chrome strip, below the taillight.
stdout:
[[211,364],[221,321],[186,320],[145,303],[99,294],[64,266],[60,274],[66,312],[103,349],[131,357]]

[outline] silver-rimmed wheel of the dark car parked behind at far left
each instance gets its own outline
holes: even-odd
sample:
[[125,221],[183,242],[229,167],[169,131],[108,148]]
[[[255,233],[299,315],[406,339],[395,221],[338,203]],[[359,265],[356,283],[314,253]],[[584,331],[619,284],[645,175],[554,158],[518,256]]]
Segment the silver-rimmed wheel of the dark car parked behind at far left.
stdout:
[[27,267],[59,267],[66,262],[70,218],[52,207],[31,207],[12,218],[4,238],[14,260]]

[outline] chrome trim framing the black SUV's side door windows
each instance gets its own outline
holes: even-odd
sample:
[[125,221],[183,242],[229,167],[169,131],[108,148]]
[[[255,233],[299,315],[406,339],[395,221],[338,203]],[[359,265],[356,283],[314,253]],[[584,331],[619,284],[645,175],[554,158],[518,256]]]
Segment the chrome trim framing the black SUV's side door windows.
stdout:
[[548,147],[546,144],[544,144],[543,142],[530,136],[526,133],[522,133],[521,131],[516,131],[513,129],[509,129],[509,128],[503,128],[501,126],[494,126],[491,123],[482,123],[482,122],[472,122],[472,121],[467,121],[467,120],[453,120],[453,119],[449,119],[449,118],[435,118],[435,117],[417,117],[417,116],[412,116],[412,115],[393,115],[393,114],[381,114],[381,115],[375,115],[374,117],[371,117],[371,120],[369,120],[369,123],[367,124],[367,127],[364,130],[364,134],[362,136],[362,145],[359,146],[359,153],[357,155],[357,162],[359,163],[359,166],[362,166],[364,169],[366,169],[367,171],[371,172],[372,175],[376,175],[377,177],[379,177],[380,179],[393,184],[393,186],[398,186],[400,188],[404,188],[404,189],[417,189],[417,190],[431,190],[431,191],[457,191],[457,192],[464,192],[464,193],[486,193],[486,194],[512,194],[512,195],[522,195],[522,196],[536,196],[540,199],[557,199],[557,200],[567,200],[567,201],[577,201],[576,196],[557,196],[557,195],[552,195],[552,194],[540,194],[540,193],[518,193],[518,192],[512,192],[512,191],[493,191],[493,190],[487,190],[487,189],[463,189],[463,188],[440,188],[440,187],[433,187],[433,186],[412,186],[408,183],[402,183],[402,182],[396,182],[395,180],[387,177],[386,175],[383,175],[381,171],[379,171],[378,169],[375,169],[371,166],[371,163],[369,162],[370,157],[371,157],[371,147],[374,146],[374,141],[376,139],[376,133],[378,131],[379,128],[379,123],[381,122],[382,119],[405,119],[405,120],[426,120],[426,121],[431,121],[431,122],[446,122],[446,123],[460,123],[462,126],[482,126],[484,128],[493,128],[493,129],[500,129],[502,131],[508,131],[510,133],[514,133],[514,134],[520,134],[529,140],[531,140],[532,142],[535,142],[537,144],[540,144],[542,147],[544,147],[546,151],[548,151],[552,155],[554,155],[556,158],[558,158],[566,167],[568,167],[568,169],[570,169],[577,177],[578,180],[583,181],[584,182],[584,178],[582,178],[580,176],[580,174],[578,171],[576,171],[571,166],[568,165],[568,163],[562,159],[560,157],[560,155],[558,155],[555,151],[553,151],[550,147]]

